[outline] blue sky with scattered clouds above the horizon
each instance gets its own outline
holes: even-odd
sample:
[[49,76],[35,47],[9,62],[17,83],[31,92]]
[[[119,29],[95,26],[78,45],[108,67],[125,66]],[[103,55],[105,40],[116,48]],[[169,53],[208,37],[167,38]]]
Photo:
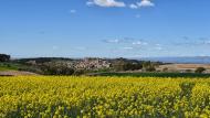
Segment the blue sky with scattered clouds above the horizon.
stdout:
[[209,11],[209,0],[0,0],[0,53],[210,56]]

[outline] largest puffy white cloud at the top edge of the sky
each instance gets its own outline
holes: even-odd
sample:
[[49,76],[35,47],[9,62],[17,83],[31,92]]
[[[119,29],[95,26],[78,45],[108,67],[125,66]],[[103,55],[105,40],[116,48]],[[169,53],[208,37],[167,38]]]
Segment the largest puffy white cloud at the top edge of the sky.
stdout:
[[99,6],[99,7],[126,7],[124,2],[116,0],[90,0],[86,2],[87,6]]

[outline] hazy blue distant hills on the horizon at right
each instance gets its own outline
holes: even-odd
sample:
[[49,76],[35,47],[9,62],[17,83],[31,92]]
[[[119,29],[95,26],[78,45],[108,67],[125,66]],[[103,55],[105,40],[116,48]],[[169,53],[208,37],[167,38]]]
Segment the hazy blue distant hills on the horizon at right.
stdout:
[[143,57],[140,61],[165,62],[165,63],[185,63],[185,64],[210,64],[210,56],[192,57]]

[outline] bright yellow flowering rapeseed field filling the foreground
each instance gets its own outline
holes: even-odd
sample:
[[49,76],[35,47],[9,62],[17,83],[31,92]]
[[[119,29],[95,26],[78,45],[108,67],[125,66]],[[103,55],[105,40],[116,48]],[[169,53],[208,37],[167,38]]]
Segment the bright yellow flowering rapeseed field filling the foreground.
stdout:
[[209,78],[0,77],[0,118],[208,118]]

